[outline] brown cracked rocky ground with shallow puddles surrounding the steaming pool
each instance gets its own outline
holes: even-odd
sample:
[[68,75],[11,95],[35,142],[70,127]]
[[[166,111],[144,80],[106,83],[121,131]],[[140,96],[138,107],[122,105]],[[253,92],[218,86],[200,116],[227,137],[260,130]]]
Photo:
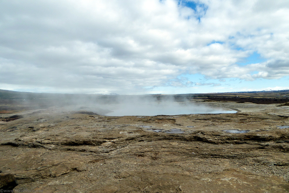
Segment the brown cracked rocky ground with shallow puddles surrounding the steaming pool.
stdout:
[[43,192],[289,192],[288,105],[192,102],[238,113],[0,114],[1,173]]

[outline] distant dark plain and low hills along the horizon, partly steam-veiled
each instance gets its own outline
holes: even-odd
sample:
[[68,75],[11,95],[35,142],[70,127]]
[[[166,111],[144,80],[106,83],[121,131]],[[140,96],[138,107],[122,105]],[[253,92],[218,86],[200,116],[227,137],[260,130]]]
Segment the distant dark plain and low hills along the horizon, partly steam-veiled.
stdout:
[[[117,96],[117,97],[116,97]],[[289,101],[289,90],[264,90],[247,92],[227,93],[200,93],[200,94],[145,94],[145,95],[118,95],[109,91],[94,92],[89,94],[57,94],[57,93],[32,93],[17,92],[0,89],[0,105],[6,103],[19,103],[20,101],[35,104],[35,108],[51,105],[74,104],[74,101],[97,101],[104,100],[111,103],[116,98],[135,99],[141,97],[154,97],[156,100],[174,99],[176,102],[189,101],[192,99],[212,101],[251,102],[257,104],[280,104]],[[14,101],[12,101],[14,100]],[[1,108],[1,106],[0,106]]]

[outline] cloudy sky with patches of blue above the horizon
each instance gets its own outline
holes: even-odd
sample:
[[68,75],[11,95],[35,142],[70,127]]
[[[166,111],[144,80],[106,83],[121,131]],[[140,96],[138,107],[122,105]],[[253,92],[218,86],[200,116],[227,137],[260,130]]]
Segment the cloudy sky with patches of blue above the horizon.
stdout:
[[1,0],[0,89],[289,89],[288,0]]

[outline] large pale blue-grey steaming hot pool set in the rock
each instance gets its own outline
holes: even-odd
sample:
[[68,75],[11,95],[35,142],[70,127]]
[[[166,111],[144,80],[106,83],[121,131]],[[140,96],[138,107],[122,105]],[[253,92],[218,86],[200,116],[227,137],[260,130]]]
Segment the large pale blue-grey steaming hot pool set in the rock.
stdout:
[[156,116],[181,114],[219,114],[236,113],[229,109],[213,108],[195,103],[161,102],[161,103],[122,103],[109,106],[106,116]]

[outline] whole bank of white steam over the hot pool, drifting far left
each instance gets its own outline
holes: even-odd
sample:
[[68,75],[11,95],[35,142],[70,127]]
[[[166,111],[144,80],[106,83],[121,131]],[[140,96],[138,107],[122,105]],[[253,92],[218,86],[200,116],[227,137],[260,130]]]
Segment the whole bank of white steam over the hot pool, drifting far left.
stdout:
[[[6,98],[4,98],[6,97]],[[21,104],[23,109],[59,106],[67,111],[92,111],[106,116],[155,116],[179,114],[234,113],[196,103],[184,95],[96,95],[7,92],[2,99]],[[8,108],[8,107],[7,107]]]

